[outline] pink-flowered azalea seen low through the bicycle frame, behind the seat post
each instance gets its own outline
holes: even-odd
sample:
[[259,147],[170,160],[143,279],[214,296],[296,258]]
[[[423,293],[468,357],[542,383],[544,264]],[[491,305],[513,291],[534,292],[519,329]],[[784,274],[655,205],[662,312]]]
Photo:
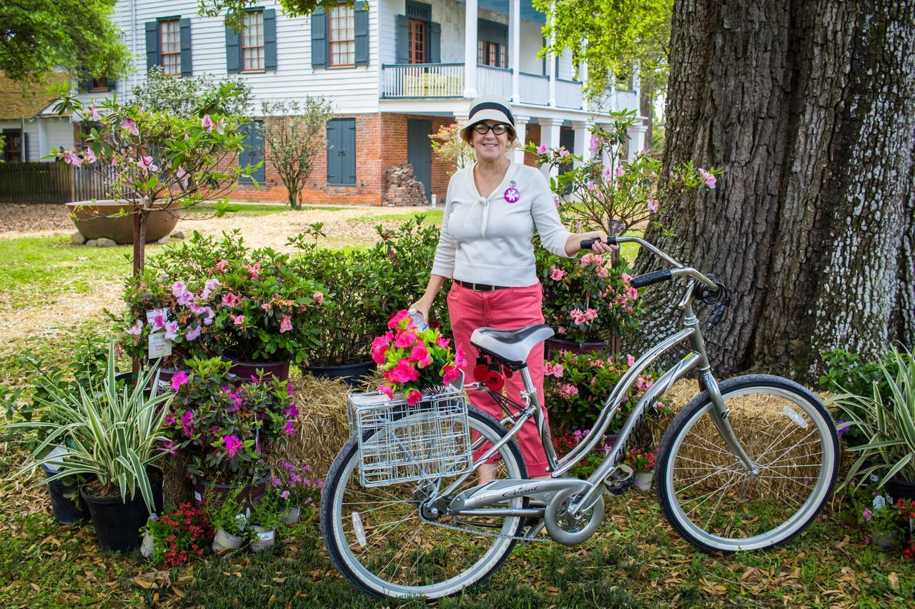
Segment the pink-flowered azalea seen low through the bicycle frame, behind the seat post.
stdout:
[[[544,362],[546,405],[550,411],[550,425],[556,433],[589,428],[634,361],[632,356],[607,357],[597,352],[560,351]],[[619,432],[632,407],[656,379],[657,375],[648,370],[636,379],[610,423],[608,433]]]

